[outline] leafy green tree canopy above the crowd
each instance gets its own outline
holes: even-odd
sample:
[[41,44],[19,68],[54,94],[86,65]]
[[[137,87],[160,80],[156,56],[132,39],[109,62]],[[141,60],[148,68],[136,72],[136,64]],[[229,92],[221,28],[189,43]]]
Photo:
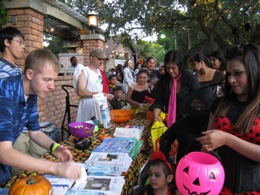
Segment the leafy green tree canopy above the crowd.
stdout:
[[[143,35],[165,32],[166,49],[188,50],[207,40],[208,49],[225,49],[234,43],[260,45],[260,2],[256,0],[70,0],[69,6],[87,16],[99,13],[109,33]],[[178,4],[176,3],[178,2]],[[134,34],[137,36],[137,34]],[[162,41],[163,42],[163,41]],[[176,44],[177,43],[177,44]]]

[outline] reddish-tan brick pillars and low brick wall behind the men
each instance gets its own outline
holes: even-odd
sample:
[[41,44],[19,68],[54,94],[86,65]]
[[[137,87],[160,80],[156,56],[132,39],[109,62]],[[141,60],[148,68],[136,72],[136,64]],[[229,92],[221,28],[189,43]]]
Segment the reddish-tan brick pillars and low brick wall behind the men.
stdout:
[[[17,61],[17,65],[23,68],[24,60],[28,53],[37,48],[43,48],[44,14],[30,8],[12,8],[8,9],[8,17],[10,22],[6,26],[18,28],[25,37],[25,56]],[[11,22],[13,17],[16,18],[16,23]],[[103,49],[103,46],[104,40],[99,38],[83,40],[84,64],[89,64],[89,54],[92,49]],[[55,81],[55,90],[48,97],[39,98],[38,101],[40,121],[52,121],[59,129],[61,129],[66,106],[66,92],[61,88],[65,84],[72,84],[72,75],[59,76]],[[79,97],[72,88],[69,89],[69,93],[71,104],[78,105]],[[71,121],[75,121],[76,114],[77,108],[71,108]]]

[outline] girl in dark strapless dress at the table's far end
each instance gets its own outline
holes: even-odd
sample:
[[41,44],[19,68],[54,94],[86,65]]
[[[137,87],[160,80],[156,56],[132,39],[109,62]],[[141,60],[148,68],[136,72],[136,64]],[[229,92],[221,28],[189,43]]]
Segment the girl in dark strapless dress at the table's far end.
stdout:
[[145,102],[145,96],[150,97],[148,72],[140,69],[137,74],[137,83],[131,85],[126,94],[126,101],[134,108],[139,108]]

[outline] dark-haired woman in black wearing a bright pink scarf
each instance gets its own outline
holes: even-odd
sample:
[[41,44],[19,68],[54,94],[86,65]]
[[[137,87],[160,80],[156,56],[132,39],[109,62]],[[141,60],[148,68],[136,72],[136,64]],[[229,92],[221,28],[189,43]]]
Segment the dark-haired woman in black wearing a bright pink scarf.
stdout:
[[[200,84],[195,75],[185,68],[183,55],[179,51],[170,50],[164,58],[165,74],[157,82],[155,89],[155,101],[152,105],[154,111],[154,121],[160,121],[159,113],[161,111],[169,114],[176,112],[175,120],[180,117],[179,105],[183,97],[190,91],[198,89]],[[174,87],[174,83],[176,86]],[[176,106],[169,106],[172,90],[176,93]],[[172,96],[174,97],[174,95]],[[169,109],[170,107],[170,109]],[[174,110],[175,109],[175,110]],[[174,121],[169,121],[170,127]]]

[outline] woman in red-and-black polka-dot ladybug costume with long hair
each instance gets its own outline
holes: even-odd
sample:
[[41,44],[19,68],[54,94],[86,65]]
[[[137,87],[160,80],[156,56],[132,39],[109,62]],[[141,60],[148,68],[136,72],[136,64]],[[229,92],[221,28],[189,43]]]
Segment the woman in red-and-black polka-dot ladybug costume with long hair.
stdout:
[[217,149],[225,170],[221,194],[259,194],[260,50],[237,45],[227,50],[226,58],[224,97],[197,140],[206,151]]

